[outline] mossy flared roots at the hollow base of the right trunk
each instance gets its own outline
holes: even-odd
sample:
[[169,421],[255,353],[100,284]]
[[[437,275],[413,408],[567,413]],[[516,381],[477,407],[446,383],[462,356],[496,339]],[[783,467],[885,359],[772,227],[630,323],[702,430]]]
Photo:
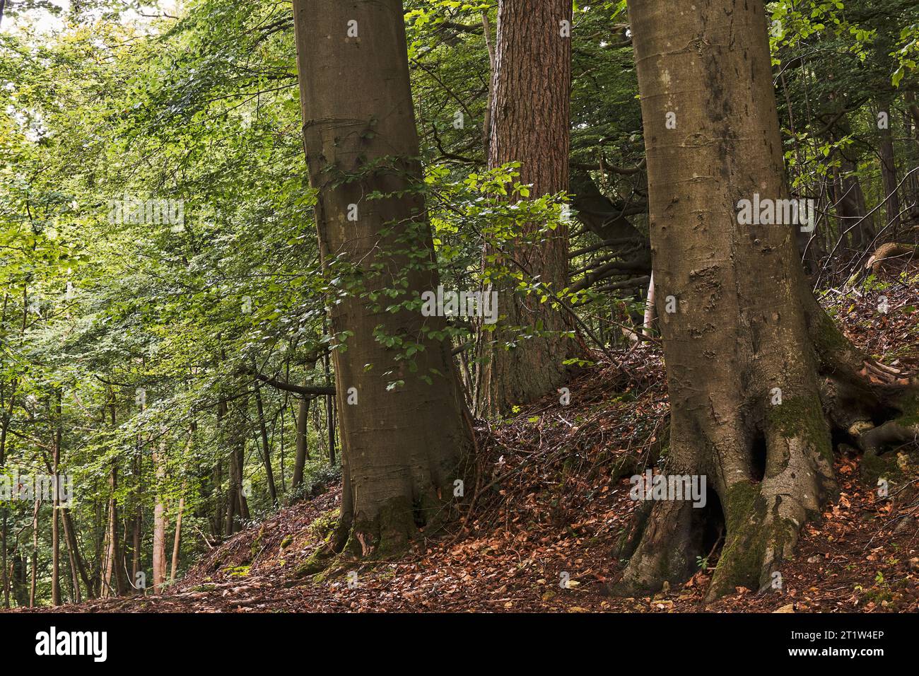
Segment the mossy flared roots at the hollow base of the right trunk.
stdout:
[[[919,439],[915,378],[858,350],[815,302],[808,311],[819,396],[800,393],[765,412],[747,410],[719,430],[687,430],[682,439],[677,433],[675,445],[702,438],[714,451],[678,453],[693,460],[668,471],[708,475],[709,502],[716,501],[718,509],[699,510],[686,499],[641,505],[621,546],[621,555],[630,560],[611,593],[652,593],[664,582],[686,581],[708,556],[705,533],[720,522],[725,542],[707,600],[737,587],[780,590],[781,565],[792,556],[800,529],[818,520],[836,495],[834,439],[857,445],[864,462],[883,466],[887,475],[891,463],[879,461],[880,456]],[[752,433],[750,420],[756,421]],[[765,458],[757,457],[763,453]],[[716,461],[707,463],[711,457]],[[765,468],[762,474],[759,465]]]

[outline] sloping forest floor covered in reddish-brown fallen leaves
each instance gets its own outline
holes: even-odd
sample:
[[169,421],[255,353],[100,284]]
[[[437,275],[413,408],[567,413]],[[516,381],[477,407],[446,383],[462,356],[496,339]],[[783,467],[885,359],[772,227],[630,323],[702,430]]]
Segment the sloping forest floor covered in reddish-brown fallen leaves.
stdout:
[[[886,363],[919,368],[919,310],[912,284],[829,292],[849,338]],[[887,314],[878,297],[888,298]],[[654,596],[610,598],[614,555],[630,522],[633,463],[661,452],[667,397],[660,349],[649,343],[605,355],[572,384],[571,403],[548,398],[478,431],[478,483],[452,532],[402,558],[301,576],[298,567],[334,523],[341,488],[280,510],[210,551],[159,594],[64,606],[68,612],[916,612],[919,501],[880,499],[860,454],[842,447],[840,496],[801,534],[782,567],[782,589],[705,604],[716,561],[685,585]],[[909,453],[907,453],[909,451]],[[650,455],[649,455],[650,454]],[[883,457],[883,456],[882,456]],[[919,483],[915,449],[895,462]],[[621,478],[618,478],[621,476]],[[874,478],[874,477],[871,477]],[[891,494],[898,487],[891,485]],[[717,555],[713,555],[717,556]],[[355,577],[351,572],[357,573]],[[560,584],[567,573],[567,588]]]

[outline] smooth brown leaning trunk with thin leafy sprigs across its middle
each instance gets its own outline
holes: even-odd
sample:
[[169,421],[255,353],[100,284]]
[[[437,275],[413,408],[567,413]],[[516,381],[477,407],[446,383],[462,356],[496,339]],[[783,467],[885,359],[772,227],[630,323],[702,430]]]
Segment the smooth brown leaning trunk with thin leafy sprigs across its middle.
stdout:
[[[334,355],[345,475],[335,548],[385,553],[403,548],[418,525],[448,516],[452,481],[471,445],[450,345],[426,333],[446,321],[418,309],[386,312],[361,298],[404,282],[398,300],[420,309],[421,292],[439,283],[416,190],[422,180],[403,6],[295,0],[294,26],[323,266],[346,261],[335,267],[345,266],[346,285],[357,286],[331,310],[332,335],[351,332],[346,352]],[[380,199],[366,199],[378,191]],[[397,359],[405,348],[377,339],[377,327],[417,343],[409,360],[417,372]],[[357,404],[348,404],[353,393]]]

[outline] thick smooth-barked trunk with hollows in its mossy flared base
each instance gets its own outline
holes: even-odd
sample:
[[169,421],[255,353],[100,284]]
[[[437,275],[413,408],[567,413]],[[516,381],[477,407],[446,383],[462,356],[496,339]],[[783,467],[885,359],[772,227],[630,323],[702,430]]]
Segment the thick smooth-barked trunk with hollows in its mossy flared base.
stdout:
[[685,580],[714,544],[707,526],[721,523],[711,599],[770,585],[834,494],[827,418],[863,439],[882,415],[881,386],[861,375],[875,362],[814,301],[796,226],[738,223],[738,201],[788,196],[762,0],[636,0],[630,19],[670,393],[665,469],[707,476],[708,494],[704,509],[646,503],[614,589]]

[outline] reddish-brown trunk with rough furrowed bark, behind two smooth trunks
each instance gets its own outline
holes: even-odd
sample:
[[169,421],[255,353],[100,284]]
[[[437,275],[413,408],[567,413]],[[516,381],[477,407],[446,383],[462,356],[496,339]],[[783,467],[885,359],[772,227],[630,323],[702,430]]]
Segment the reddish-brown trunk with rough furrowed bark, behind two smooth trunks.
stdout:
[[[533,197],[568,191],[571,22],[567,0],[498,3],[488,164],[519,162],[519,181],[532,184]],[[520,235],[532,235],[540,225],[526,224]],[[486,258],[496,257],[497,265],[522,272],[525,280],[539,278],[550,292],[562,292],[568,286],[567,224],[547,236],[539,244],[516,242],[506,257],[489,247]],[[514,292],[514,281],[496,281],[496,286],[498,312],[510,328],[494,334],[487,349],[483,394],[491,415],[554,392],[568,377],[562,361],[575,353],[573,341],[559,335],[571,330],[559,310],[539,303],[539,294]],[[519,339],[520,332],[539,326],[555,333]]]

